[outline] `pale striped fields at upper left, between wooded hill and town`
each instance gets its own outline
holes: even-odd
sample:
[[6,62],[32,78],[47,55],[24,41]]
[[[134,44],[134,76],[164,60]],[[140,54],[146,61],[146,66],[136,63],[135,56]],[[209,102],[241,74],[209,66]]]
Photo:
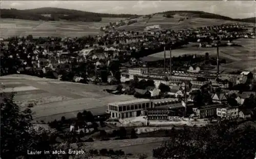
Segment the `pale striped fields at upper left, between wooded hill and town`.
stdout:
[[82,21],[31,21],[21,19],[0,19],[1,37],[27,36],[33,37],[80,37],[100,33],[100,27],[109,22],[116,22],[124,18],[102,18],[100,22]]

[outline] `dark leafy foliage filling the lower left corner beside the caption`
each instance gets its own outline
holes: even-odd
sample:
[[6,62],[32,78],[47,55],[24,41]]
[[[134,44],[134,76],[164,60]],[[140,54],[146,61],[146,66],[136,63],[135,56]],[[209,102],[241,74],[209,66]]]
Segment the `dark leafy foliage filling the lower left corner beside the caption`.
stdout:
[[[29,155],[28,151],[51,151],[54,135],[32,126],[32,111],[24,111],[14,103],[14,93],[1,93],[1,157],[2,158],[50,158],[51,154]],[[56,157],[55,157],[56,158]]]

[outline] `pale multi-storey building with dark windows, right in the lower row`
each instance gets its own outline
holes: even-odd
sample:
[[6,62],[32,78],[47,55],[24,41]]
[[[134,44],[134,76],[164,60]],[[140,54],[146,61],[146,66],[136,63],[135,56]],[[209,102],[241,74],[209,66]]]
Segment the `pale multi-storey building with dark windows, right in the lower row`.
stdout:
[[237,118],[238,107],[226,106],[223,108],[217,108],[217,116],[221,118]]

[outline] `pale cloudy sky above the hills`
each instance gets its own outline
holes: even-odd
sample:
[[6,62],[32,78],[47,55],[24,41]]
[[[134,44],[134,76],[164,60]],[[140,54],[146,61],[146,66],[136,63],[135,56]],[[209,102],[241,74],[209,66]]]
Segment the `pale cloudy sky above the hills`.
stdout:
[[232,18],[254,17],[255,1],[1,1],[1,8],[57,7],[112,14],[152,14],[172,10],[196,10]]

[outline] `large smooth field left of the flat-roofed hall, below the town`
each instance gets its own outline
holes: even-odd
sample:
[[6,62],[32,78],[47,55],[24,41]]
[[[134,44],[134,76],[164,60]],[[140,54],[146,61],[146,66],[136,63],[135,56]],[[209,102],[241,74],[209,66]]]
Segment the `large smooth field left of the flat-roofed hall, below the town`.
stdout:
[[110,95],[103,92],[103,89],[111,86],[30,78],[26,75],[20,75],[18,78],[18,76],[0,77],[1,91],[16,90],[14,100],[22,109],[33,103],[34,107],[31,110],[35,112],[34,119],[37,121],[60,120],[62,116],[74,118],[77,112],[82,110],[90,110],[97,115],[105,112],[108,103],[135,99],[133,96]]

